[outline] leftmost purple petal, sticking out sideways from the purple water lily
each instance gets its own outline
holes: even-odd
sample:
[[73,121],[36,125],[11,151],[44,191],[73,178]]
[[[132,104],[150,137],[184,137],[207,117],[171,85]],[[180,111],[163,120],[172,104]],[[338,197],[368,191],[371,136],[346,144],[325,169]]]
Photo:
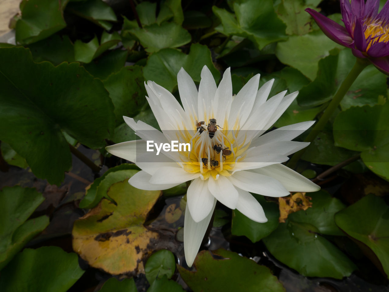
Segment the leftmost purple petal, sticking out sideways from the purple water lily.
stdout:
[[331,40],[340,45],[344,45],[349,48],[352,47],[352,38],[343,26],[311,8],[307,8],[305,11],[307,11],[313,19],[315,19],[317,25],[327,37],[331,38]]

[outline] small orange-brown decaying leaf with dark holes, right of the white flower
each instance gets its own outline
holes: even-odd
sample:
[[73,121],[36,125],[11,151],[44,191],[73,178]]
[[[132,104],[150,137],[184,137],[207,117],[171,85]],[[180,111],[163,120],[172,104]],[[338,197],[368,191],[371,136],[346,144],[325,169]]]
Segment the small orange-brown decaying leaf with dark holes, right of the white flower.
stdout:
[[285,223],[288,215],[299,210],[307,210],[309,207],[312,207],[312,198],[305,196],[305,192],[296,192],[293,195],[278,198],[279,208],[280,208],[280,223]]

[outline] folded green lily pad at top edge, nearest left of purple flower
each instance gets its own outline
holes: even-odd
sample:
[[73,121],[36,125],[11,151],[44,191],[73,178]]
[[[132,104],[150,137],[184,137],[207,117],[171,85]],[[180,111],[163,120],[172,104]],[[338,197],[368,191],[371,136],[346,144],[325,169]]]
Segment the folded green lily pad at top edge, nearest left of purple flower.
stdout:
[[235,15],[225,9],[212,7],[221,25],[215,30],[225,35],[249,38],[259,49],[272,42],[286,40],[286,25],[278,18],[272,0],[234,2]]

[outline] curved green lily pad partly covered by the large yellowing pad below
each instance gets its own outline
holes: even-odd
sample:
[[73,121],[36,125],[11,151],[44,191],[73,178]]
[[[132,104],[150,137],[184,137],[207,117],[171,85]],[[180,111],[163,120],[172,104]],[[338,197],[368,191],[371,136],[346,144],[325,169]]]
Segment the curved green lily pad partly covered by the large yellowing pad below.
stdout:
[[[96,178],[95,181],[93,182],[93,184],[91,184],[89,189],[86,191],[85,197],[80,202],[79,207],[90,209],[90,208],[95,207],[101,201],[102,198],[110,199],[107,196],[107,186],[109,187],[110,184],[104,183],[105,187],[99,189],[99,191],[98,191],[98,187],[100,186],[100,184],[102,184],[102,182],[105,180],[105,178],[107,178],[108,175],[110,175],[111,173],[114,173],[116,171],[121,171],[121,170],[132,171],[132,170],[139,170],[139,168],[135,164],[128,164],[128,163],[123,163],[123,164],[120,164],[118,166],[110,168],[101,177]],[[125,173],[124,175],[127,175],[126,172],[124,172],[124,173]],[[116,175],[113,175],[113,177],[116,177]],[[109,180],[109,178],[108,178],[108,180]],[[117,181],[118,180],[116,180],[116,182]]]

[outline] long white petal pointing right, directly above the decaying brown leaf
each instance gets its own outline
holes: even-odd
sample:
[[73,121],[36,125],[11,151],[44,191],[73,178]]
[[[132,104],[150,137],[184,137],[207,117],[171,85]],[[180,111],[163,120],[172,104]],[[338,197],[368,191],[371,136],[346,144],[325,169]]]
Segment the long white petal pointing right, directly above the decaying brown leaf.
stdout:
[[273,164],[263,168],[252,169],[252,172],[267,175],[278,180],[289,192],[316,192],[320,187],[300,173],[282,164]]

